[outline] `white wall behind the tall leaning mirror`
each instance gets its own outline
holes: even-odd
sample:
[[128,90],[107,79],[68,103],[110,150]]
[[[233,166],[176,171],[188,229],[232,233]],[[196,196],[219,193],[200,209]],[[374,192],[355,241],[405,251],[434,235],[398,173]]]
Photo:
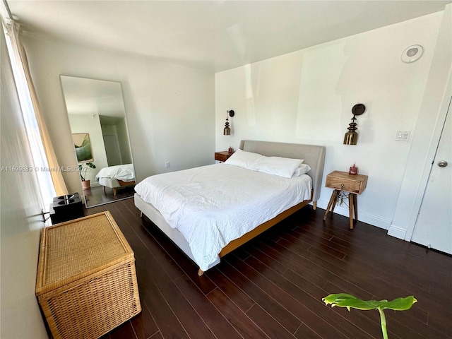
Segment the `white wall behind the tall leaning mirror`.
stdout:
[[[60,75],[121,82],[138,181],[214,162],[213,73],[30,33],[23,42],[60,166],[76,166]],[[77,173],[63,175],[82,192]]]

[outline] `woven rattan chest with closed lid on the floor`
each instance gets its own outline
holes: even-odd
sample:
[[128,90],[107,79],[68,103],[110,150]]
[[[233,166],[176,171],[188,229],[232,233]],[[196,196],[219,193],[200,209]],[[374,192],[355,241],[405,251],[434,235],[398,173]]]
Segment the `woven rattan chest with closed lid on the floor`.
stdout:
[[109,212],[42,230],[36,296],[54,338],[99,338],[141,311],[133,251]]

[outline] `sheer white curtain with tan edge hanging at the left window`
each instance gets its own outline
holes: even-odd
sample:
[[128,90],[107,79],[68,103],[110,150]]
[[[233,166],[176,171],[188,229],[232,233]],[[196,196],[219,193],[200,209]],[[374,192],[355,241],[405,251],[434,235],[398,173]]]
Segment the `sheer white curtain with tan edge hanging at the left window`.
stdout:
[[68,190],[49,138],[47,126],[42,118],[25,49],[20,42],[20,26],[13,20],[3,24],[28,141],[32,150],[34,164],[30,168],[37,174],[43,200],[50,203],[54,196],[68,194]]

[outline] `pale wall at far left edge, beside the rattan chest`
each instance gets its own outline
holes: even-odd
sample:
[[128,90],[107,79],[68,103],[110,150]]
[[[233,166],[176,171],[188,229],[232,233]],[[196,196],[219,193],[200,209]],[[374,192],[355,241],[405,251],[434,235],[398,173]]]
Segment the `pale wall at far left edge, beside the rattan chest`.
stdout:
[[35,297],[40,231],[44,227],[36,172],[0,29],[0,338],[48,338]]

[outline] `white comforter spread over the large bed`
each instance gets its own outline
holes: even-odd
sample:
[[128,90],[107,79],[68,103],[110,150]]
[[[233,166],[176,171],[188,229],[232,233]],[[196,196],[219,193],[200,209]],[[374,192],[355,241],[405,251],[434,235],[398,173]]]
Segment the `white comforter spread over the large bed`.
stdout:
[[311,198],[311,177],[287,179],[222,163],[157,174],[135,191],[182,232],[207,270],[229,242]]

